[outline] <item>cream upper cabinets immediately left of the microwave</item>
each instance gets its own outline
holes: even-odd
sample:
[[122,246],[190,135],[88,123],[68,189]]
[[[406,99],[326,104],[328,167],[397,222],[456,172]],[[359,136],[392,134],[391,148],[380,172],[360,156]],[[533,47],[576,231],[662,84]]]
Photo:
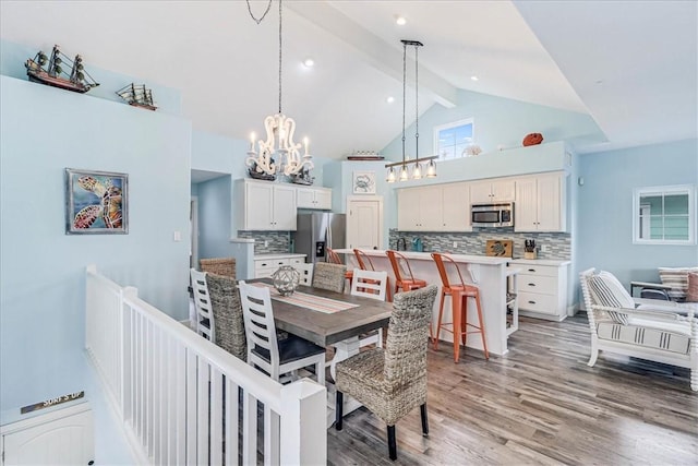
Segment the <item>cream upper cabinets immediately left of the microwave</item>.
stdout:
[[398,191],[397,228],[402,231],[468,231],[466,183],[432,184]]

